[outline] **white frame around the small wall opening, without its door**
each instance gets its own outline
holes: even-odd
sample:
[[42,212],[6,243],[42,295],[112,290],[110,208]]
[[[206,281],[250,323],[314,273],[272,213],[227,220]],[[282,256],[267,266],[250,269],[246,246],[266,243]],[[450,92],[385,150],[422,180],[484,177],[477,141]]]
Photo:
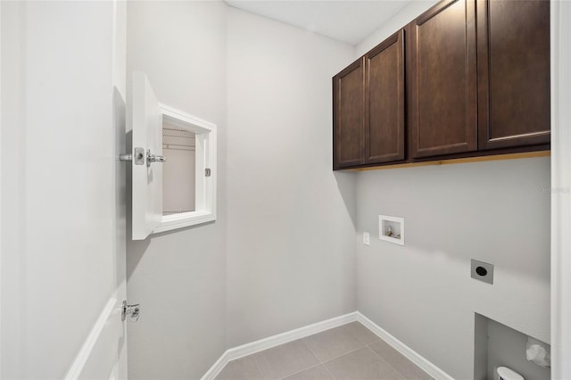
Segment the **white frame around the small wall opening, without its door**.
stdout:
[[[163,120],[196,136],[195,211],[162,216],[153,234],[216,220],[216,125],[164,104],[159,107]],[[205,176],[205,169],[211,169],[210,177]]]

